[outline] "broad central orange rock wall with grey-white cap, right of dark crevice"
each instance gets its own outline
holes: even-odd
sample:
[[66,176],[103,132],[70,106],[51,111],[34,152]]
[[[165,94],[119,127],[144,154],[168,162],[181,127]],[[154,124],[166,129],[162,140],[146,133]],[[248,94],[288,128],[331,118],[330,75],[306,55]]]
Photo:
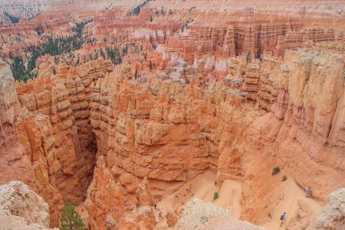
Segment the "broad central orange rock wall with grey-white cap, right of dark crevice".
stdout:
[[[129,206],[134,206],[138,178],[187,181],[215,171],[227,150],[219,150],[220,142],[230,143],[244,124],[262,114],[242,105],[245,93],[223,82],[203,90],[205,79],[194,71],[176,66],[135,80],[125,64],[91,86],[90,121],[98,154],[124,187]],[[232,167],[231,172],[241,174],[239,165]]]

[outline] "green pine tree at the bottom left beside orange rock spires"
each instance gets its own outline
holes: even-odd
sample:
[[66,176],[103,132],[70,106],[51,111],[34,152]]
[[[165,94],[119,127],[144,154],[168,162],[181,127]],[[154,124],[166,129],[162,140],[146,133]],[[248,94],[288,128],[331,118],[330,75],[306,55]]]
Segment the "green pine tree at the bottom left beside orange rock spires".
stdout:
[[74,212],[74,206],[68,201],[62,208],[61,230],[85,230],[85,224],[77,212]]

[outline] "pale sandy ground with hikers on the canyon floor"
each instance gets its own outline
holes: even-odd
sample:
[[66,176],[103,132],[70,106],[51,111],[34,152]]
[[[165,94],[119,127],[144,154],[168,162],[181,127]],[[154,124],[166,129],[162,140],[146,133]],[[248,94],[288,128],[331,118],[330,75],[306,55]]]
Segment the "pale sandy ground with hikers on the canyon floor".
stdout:
[[[166,222],[167,219],[165,216],[168,213],[169,208],[175,206],[185,207],[186,202],[194,197],[199,197],[205,202],[212,202],[215,205],[231,210],[237,218],[240,218],[242,195],[241,182],[225,180],[221,186],[218,183],[216,187],[214,186],[214,178],[215,173],[212,172],[200,174],[193,180],[186,182],[173,194],[162,198],[160,201],[157,200],[157,207],[163,212],[163,218],[162,220],[159,220],[159,211],[157,211],[156,230],[175,229],[169,227]],[[288,175],[288,178],[292,177]],[[277,184],[277,189],[284,191],[283,196],[281,199],[276,201],[276,208],[271,213],[272,219],[269,218],[269,221],[260,226],[267,230],[301,230],[305,227],[307,227],[307,230],[312,229],[312,219],[316,214],[321,212],[322,206],[315,200],[307,198],[305,191],[299,188],[293,179],[279,182]],[[215,192],[218,192],[219,197],[216,200],[213,200]],[[255,196],[255,193],[253,193],[253,196]],[[82,209],[83,211],[81,211]],[[82,219],[86,220],[88,214],[83,203],[76,206],[75,210],[80,214]],[[286,212],[286,221],[283,226],[280,227],[279,217],[283,212]],[[141,228],[145,229],[142,225]]]

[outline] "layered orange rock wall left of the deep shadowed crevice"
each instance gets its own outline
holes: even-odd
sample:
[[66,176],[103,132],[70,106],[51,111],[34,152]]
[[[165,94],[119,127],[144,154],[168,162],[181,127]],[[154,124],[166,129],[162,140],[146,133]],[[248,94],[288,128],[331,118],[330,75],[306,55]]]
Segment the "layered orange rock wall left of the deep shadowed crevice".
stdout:
[[56,76],[46,66],[35,80],[17,83],[23,106],[17,136],[35,168],[39,194],[50,204],[55,226],[62,197],[78,204],[91,183],[97,147],[89,124],[90,85],[108,70],[109,64],[101,60],[69,72],[68,66],[59,65]]

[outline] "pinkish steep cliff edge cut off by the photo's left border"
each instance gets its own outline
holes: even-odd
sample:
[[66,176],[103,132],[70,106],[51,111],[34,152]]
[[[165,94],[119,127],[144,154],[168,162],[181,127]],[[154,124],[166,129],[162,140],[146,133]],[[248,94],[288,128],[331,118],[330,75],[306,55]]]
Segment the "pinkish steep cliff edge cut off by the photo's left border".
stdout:
[[30,159],[16,135],[18,113],[18,96],[12,72],[9,66],[0,61],[0,181],[5,184],[21,180],[37,191]]

